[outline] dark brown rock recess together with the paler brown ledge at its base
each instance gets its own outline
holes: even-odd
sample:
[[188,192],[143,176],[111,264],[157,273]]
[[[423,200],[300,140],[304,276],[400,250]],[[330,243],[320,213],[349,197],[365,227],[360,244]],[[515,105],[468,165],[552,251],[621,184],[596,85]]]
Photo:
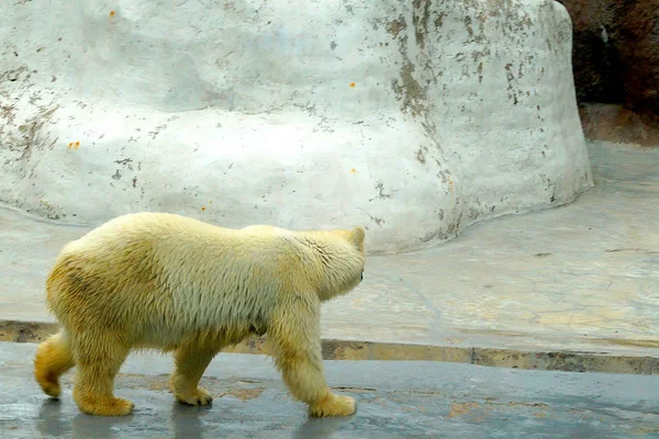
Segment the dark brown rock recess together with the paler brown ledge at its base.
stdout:
[[658,145],[659,0],[559,1],[572,16],[587,136]]

